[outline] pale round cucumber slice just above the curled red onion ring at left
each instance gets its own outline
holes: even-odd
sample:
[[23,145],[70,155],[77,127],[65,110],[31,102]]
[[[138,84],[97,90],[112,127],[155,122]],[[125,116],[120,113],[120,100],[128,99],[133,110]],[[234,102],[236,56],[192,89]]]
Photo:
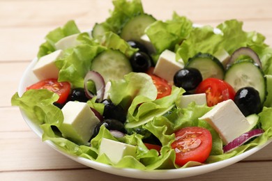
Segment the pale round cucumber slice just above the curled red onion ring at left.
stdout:
[[130,61],[118,50],[107,49],[91,63],[91,70],[94,70],[102,75],[105,82],[109,79],[123,79],[125,74],[132,72]]

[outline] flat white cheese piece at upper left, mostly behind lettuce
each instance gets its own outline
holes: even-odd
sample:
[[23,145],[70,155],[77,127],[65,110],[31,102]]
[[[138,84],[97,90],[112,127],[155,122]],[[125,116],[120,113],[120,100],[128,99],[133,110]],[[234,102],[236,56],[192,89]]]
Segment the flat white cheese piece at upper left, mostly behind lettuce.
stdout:
[[77,36],[79,34],[74,34],[71,36],[66,36],[64,38],[61,38],[58,42],[55,43],[56,49],[68,49],[68,48],[73,48],[76,47],[77,45],[82,44],[79,40],[77,40]]

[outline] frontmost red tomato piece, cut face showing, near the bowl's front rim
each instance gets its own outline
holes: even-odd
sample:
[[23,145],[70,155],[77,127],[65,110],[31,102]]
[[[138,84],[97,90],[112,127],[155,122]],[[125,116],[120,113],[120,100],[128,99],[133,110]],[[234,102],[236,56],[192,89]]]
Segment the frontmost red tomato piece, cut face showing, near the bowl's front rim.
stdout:
[[174,133],[175,141],[171,147],[176,152],[175,163],[179,166],[194,161],[203,163],[209,157],[212,147],[212,136],[203,127],[185,127]]

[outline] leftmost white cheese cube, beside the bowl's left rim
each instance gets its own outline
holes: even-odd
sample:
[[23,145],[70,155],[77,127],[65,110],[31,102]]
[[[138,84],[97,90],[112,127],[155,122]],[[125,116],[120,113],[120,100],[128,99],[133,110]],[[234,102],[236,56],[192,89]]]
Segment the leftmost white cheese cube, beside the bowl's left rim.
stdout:
[[57,79],[59,77],[59,68],[56,67],[55,61],[63,56],[63,51],[56,50],[51,54],[40,57],[36,65],[33,67],[33,73],[40,80],[43,79]]

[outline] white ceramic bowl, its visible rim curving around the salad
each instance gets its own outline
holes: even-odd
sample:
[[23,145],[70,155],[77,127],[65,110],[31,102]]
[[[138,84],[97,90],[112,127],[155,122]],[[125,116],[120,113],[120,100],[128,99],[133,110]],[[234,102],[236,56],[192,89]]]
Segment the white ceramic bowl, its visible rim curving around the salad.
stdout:
[[[35,65],[37,61],[37,58],[33,59],[31,64],[28,66],[27,70],[25,70],[22,79],[20,81],[19,86],[19,95],[22,95],[24,91],[26,90],[27,86],[30,86],[33,83],[36,83],[38,79],[36,79],[35,75],[33,74],[31,68],[33,68],[33,65]],[[29,118],[27,118],[24,111],[22,111],[22,116],[24,120],[27,122],[29,127],[35,132],[40,138],[42,137],[42,129],[38,125],[35,125]],[[226,166],[229,166],[231,164],[234,164],[236,162],[241,161],[242,159],[245,159],[245,157],[248,157],[255,152],[261,150],[266,145],[268,145],[271,141],[268,141],[264,145],[259,145],[255,148],[252,148],[251,150],[248,150],[246,152],[243,152],[241,155],[237,155],[235,157],[232,157],[230,159],[223,160],[221,162],[216,162],[213,164],[206,164],[202,166],[195,166],[190,168],[179,168],[179,169],[169,169],[169,170],[155,170],[155,171],[140,171],[137,169],[132,168],[114,168],[113,166],[109,166],[107,164],[101,164],[89,159],[85,159],[83,157],[77,157],[75,155],[68,155],[66,152],[63,152],[62,148],[59,148],[59,146],[52,143],[52,141],[45,141],[48,145],[50,145],[52,148],[57,150],[58,152],[61,152],[63,155],[66,155],[66,157],[69,157],[70,159],[75,160],[76,162],[79,162],[81,164],[84,164],[86,166],[89,166],[91,168],[95,168],[99,171],[103,171],[106,173],[112,173],[114,175],[121,175],[124,177],[129,178],[142,178],[142,179],[154,179],[154,180],[162,180],[162,179],[174,179],[174,178],[186,178],[194,175],[200,175],[203,173],[209,173],[211,171],[216,171],[220,168],[224,168]]]

